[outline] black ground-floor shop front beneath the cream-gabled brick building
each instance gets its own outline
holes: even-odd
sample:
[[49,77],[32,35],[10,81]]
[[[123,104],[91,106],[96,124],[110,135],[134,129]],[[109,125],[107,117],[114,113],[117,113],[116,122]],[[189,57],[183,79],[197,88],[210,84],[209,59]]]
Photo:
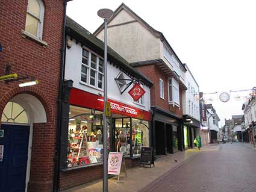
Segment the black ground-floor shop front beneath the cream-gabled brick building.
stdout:
[[184,138],[181,129],[181,119],[176,114],[159,107],[151,107],[152,117],[152,146],[156,155],[166,155],[183,150]]

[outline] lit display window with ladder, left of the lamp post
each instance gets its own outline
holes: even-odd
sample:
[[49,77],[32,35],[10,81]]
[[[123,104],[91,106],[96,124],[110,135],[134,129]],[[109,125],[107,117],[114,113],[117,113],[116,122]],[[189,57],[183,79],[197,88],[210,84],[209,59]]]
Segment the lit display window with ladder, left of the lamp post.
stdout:
[[[103,161],[102,112],[70,105],[67,138],[67,167]],[[108,126],[109,141],[109,126]],[[108,149],[110,149],[108,142]]]

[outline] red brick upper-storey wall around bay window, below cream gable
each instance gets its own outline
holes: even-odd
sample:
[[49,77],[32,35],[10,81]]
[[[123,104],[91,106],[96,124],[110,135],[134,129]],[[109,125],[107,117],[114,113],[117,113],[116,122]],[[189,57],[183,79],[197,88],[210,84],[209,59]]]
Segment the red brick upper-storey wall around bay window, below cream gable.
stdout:
[[[157,106],[163,108],[167,111],[172,111],[180,117],[183,117],[183,108],[182,108],[182,90],[180,87],[180,105],[181,107],[173,107],[168,103],[168,76],[164,75],[160,67],[155,64],[149,66],[137,67],[146,77],[148,77],[154,85],[151,87],[151,106]],[[160,86],[159,79],[164,81],[164,99],[160,98]]]

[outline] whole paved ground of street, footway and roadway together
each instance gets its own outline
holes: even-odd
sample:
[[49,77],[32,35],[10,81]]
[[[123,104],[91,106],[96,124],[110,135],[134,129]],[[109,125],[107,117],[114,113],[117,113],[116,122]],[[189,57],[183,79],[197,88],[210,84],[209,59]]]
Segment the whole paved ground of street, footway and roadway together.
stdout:
[[[175,163],[174,159],[178,159]],[[155,168],[127,170],[128,177],[108,179],[108,191],[139,192],[255,192],[256,150],[248,143],[208,144],[163,156]],[[101,192],[102,181],[65,192]]]

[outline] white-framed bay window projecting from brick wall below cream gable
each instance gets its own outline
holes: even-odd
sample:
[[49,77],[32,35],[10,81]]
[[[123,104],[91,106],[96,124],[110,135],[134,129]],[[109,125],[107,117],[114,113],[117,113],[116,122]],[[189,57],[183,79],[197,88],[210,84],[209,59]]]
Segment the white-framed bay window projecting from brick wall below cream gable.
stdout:
[[180,107],[180,88],[179,83],[173,79],[168,79],[168,100],[169,104]]

